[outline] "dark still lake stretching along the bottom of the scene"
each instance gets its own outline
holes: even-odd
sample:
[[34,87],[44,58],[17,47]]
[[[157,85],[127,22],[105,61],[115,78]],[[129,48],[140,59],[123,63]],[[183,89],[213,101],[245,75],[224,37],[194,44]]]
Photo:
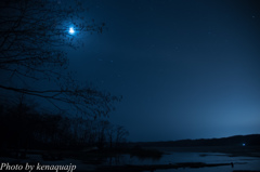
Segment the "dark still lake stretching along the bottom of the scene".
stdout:
[[[159,159],[145,158],[141,159],[135,156],[130,155],[118,155],[106,158],[105,156],[93,157],[91,162],[100,162],[100,163],[91,163],[90,161],[79,160],[79,159],[68,159],[64,158],[55,161],[44,161],[42,160],[41,154],[28,154],[26,159],[13,159],[13,158],[4,158],[0,159],[1,162],[13,162],[17,163],[32,163],[40,162],[41,164],[76,164],[77,170],[81,171],[94,171],[96,167],[105,164],[105,166],[123,166],[123,164],[176,164],[182,162],[204,162],[208,164],[212,163],[230,163],[230,166],[220,166],[220,167],[210,167],[210,168],[199,168],[199,169],[191,169],[191,168],[179,168],[179,169],[168,169],[168,170],[156,170],[155,172],[233,172],[233,170],[251,170],[260,172],[260,158],[258,157],[246,157],[246,156],[230,156],[229,154],[223,153],[195,153],[195,151],[173,151],[165,150],[164,155]],[[255,153],[255,151],[253,151]],[[257,156],[258,154],[256,154]],[[101,158],[101,159],[100,159]],[[234,163],[232,168],[231,162]]]

